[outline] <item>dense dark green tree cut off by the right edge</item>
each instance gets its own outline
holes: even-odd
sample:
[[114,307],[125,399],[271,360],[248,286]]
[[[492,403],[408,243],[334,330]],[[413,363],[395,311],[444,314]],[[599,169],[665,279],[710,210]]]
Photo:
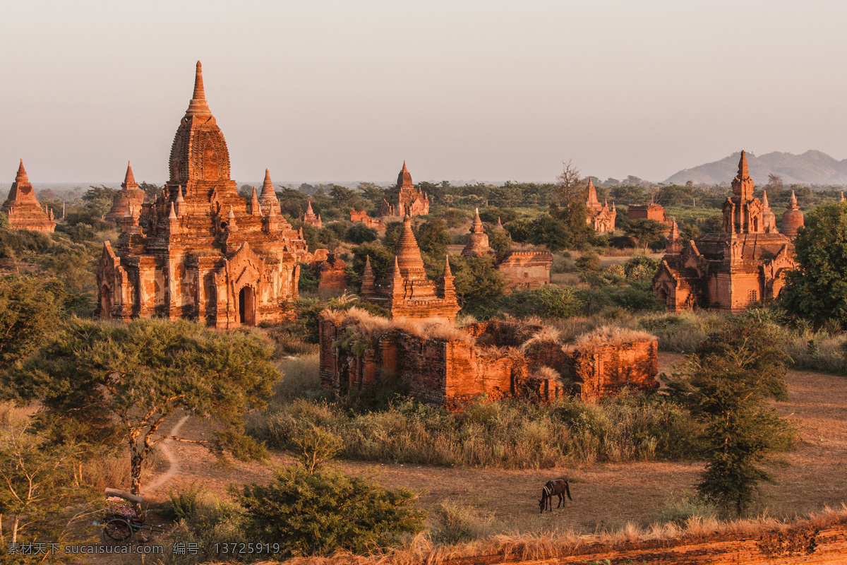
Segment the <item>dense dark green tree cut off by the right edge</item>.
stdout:
[[847,203],[823,204],[805,217],[794,258],[798,268],[788,273],[782,306],[817,326],[847,327]]

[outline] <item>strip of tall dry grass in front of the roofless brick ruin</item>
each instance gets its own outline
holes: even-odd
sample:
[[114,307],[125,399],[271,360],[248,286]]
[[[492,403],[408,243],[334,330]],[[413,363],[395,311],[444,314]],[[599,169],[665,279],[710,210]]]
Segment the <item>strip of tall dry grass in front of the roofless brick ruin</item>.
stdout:
[[677,405],[628,393],[598,405],[479,403],[459,414],[413,401],[356,412],[346,400],[298,399],[252,418],[249,430],[287,448],[312,424],[339,435],[348,459],[491,468],[678,460],[694,457],[699,435]]

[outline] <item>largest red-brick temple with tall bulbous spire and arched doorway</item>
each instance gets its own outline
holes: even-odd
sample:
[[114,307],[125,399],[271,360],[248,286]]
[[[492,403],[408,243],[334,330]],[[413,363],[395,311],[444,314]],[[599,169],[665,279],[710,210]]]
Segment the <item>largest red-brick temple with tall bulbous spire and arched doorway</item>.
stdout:
[[268,171],[261,198],[255,189],[250,202],[238,195],[199,62],[169,171],[155,202],[142,204],[137,215],[131,205],[119,219],[116,244],[104,244],[97,314],[197,319],[218,328],[288,316],[306,242],[280,215]]

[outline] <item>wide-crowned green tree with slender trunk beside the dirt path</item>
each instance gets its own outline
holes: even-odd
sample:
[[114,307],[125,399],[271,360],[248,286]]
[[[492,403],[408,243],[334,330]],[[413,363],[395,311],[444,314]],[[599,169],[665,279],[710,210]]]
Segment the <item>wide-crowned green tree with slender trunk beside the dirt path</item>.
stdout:
[[[18,400],[38,400],[51,418],[84,426],[117,418],[130,448],[131,490],[141,490],[141,465],[166,418],[183,409],[213,426],[209,440],[191,440],[223,457],[261,458],[243,433],[243,415],[263,407],[280,374],[272,349],[242,332],[199,324],[136,319],[109,324],[70,319],[23,366],[4,375]],[[173,438],[185,440],[183,438]]]

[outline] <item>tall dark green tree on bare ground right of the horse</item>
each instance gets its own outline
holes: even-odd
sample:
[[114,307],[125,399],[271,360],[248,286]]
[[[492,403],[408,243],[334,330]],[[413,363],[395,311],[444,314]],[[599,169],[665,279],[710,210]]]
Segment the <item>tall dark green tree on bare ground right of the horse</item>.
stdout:
[[762,464],[790,441],[789,425],[764,402],[788,399],[784,345],[778,325],[749,313],[709,335],[683,374],[668,379],[672,396],[705,425],[706,470],[697,490],[738,514],[757,485],[771,480]]

